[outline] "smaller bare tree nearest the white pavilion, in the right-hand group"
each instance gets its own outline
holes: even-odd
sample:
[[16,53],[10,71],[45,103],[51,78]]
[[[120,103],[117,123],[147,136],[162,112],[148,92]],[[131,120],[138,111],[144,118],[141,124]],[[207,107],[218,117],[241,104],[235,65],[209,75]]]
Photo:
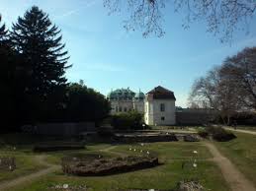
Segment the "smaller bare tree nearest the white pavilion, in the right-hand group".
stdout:
[[229,125],[230,117],[239,108],[239,101],[234,82],[220,71],[220,67],[215,67],[205,77],[196,80],[189,101],[218,111],[223,122]]

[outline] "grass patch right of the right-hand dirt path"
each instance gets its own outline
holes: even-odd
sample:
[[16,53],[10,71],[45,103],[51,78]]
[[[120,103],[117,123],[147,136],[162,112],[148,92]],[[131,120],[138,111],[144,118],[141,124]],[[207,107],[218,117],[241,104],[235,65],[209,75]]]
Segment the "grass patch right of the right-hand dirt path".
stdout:
[[235,135],[236,139],[215,145],[256,186],[256,136],[244,133]]

